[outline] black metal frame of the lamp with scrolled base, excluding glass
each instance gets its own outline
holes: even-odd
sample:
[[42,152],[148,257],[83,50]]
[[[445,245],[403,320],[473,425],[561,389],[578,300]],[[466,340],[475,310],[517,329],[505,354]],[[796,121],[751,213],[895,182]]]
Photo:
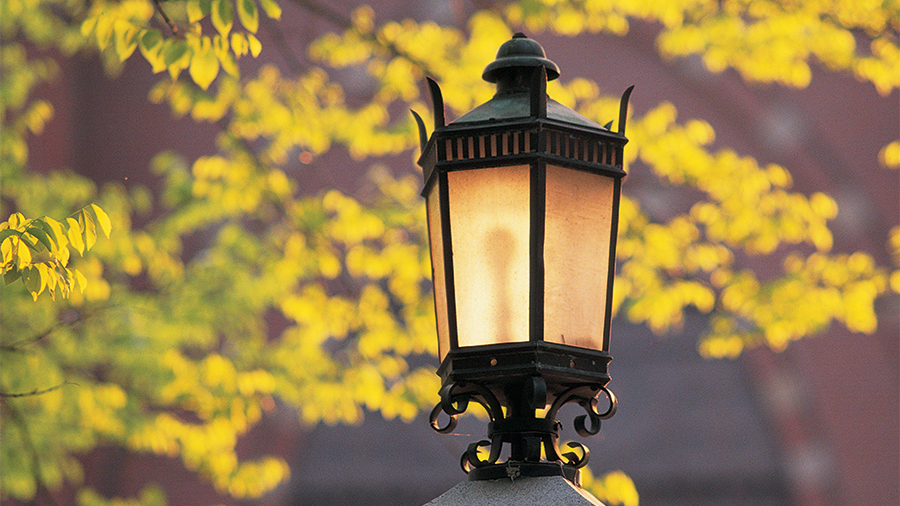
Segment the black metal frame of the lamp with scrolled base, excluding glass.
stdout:
[[[522,38],[517,34],[516,38]],[[532,44],[533,41],[526,39]],[[538,46],[539,47],[539,46]],[[502,49],[501,49],[502,50]],[[543,53],[543,50],[540,49]],[[498,53],[498,61],[499,61]],[[588,460],[589,451],[581,443],[559,447],[559,409],[571,402],[586,412],[574,421],[576,432],[590,436],[600,430],[600,421],[611,417],[617,406],[615,395],[606,388],[609,383],[609,333],[612,308],[612,279],[615,273],[615,247],[618,229],[622,155],[625,143],[625,120],[628,99],[633,87],[622,95],[618,132],[580,117],[557,103],[549,103],[546,93],[549,69],[558,75],[555,64],[543,58],[518,58],[517,65],[495,69],[498,93],[485,104],[499,117],[479,116],[479,109],[454,123],[445,125],[444,105],[438,84],[428,79],[434,108],[435,129],[427,137],[422,118],[413,111],[419,127],[426,196],[439,185],[439,212],[443,243],[444,280],[446,285],[449,348],[438,374],[442,379],[441,402],[431,413],[432,427],[448,433],[456,427],[457,418],[471,402],[484,407],[491,419],[489,440],[469,445],[461,465],[469,479],[516,478],[518,476],[563,475],[578,481],[578,469]],[[518,65],[525,61],[526,64]],[[547,65],[552,65],[548,67]],[[503,81],[503,76],[506,81]],[[502,82],[501,82],[502,81]],[[505,84],[504,84],[505,83]],[[515,83],[516,90],[503,89]],[[522,84],[527,83],[523,88]],[[523,101],[527,101],[524,102]],[[503,107],[512,106],[507,114]],[[552,106],[552,107],[551,107]],[[482,106],[484,107],[484,106]],[[552,114],[548,114],[552,109]],[[474,113],[474,114],[473,114]],[[475,117],[472,121],[471,117]],[[448,173],[486,167],[528,165],[530,167],[530,283],[529,341],[460,347],[456,322],[456,294],[450,230]],[[591,350],[544,341],[544,207],[546,167],[557,165],[592,174],[612,177],[612,227],[608,266],[606,313],[603,326],[603,349]],[[429,227],[431,221],[429,220]],[[429,234],[430,235],[430,234]],[[444,315],[438,314],[438,318]],[[601,397],[607,409],[600,411]],[[544,417],[536,410],[547,409]],[[441,425],[441,414],[449,422]],[[588,423],[589,422],[589,423]],[[504,443],[510,445],[509,459],[498,463]],[[489,448],[486,458],[483,450]],[[546,460],[545,460],[546,459]]]

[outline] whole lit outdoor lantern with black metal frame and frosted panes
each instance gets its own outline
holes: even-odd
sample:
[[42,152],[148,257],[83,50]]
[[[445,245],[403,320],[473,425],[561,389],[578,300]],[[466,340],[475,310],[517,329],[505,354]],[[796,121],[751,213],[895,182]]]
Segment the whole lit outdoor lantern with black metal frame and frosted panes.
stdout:
[[[582,436],[616,410],[609,327],[625,119],[618,131],[547,97],[559,67],[517,33],[482,77],[497,93],[435,128],[419,126],[442,379],[431,413],[451,432],[470,402],[490,417],[489,440],[469,445],[470,480],[563,475],[578,482],[588,450],[558,443],[557,413],[575,402]],[[441,413],[449,422],[439,423]],[[505,462],[500,462],[504,445]]]

